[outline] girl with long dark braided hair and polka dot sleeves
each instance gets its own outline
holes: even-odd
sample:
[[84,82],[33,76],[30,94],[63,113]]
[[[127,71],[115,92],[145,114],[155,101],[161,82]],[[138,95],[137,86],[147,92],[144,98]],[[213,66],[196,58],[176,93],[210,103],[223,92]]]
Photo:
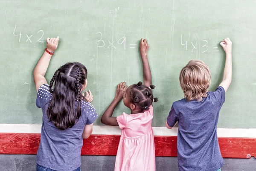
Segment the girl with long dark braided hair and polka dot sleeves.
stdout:
[[90,104],[90,90],[86,96],[82,93],[87,86],[87,69],[83,64],[64,64],[47,84],[44,75],[58,41],[58,37],[47,38],[47,48],[34,70],[36,105],[43,111],[36,170],[80,171],[83,139],[92,133],[98,114]]

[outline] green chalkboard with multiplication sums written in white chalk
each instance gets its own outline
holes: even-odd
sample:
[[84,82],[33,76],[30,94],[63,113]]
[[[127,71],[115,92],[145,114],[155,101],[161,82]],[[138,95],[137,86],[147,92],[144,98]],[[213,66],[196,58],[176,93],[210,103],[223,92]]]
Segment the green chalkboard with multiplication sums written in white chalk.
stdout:
[[[221,109],[219,128],[256,128],[256,3],[254,0],[43,0],[0,1],[0,123],[41,124],[35,105],[33,69],[47,37],[59,47],[46,74],[68,61],[87,67],[88,87],[100,116],[116,85],[143,80],[140,38],[150,45],[154,96],[153,126],[164,126],[173,101],[183,98],[179,72],[201,59],[221,82],[223,38],[233,41],[233,81]],[[129,112],[122,103],[114,116]]]

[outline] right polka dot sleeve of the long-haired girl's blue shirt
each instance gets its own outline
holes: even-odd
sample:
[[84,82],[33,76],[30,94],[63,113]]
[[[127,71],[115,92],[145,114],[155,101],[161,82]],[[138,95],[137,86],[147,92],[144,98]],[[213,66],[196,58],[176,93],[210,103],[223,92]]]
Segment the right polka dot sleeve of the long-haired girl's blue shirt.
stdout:
[[87,101],[81,101],[81,117],[84,119],[86,125],[92,124],[98,117],[98,113],[92,104]]

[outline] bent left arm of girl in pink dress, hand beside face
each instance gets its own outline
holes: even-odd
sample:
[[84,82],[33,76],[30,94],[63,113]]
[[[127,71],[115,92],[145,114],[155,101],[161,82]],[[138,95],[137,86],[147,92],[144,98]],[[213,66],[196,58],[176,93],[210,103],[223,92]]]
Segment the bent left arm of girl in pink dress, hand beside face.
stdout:
[[111,102],[111,104],[108,106],[106,111],[103,113],[101,122],[105,125],[111,125],[111,126],[118,126],[118,122],[116,120],[116,117],[112,117],[112,114],[116,108],[116,105],[119,103],[119,101],[122,100],[125,90],[127,89],[127,86],[125,86],[125,82],[121,82],[118,84],[116,88],[116,96]]

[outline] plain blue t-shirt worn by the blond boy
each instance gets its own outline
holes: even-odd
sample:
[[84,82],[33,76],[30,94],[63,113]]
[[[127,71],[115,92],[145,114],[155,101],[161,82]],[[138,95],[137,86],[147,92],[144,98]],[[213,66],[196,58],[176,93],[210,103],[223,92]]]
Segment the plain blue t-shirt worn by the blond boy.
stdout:
[[202,101],[175,101],[167,118],[169,127],[178,121],[179,171],[217,171],[224,165],[218,145],[217,123],[225,90],[218,87]]

